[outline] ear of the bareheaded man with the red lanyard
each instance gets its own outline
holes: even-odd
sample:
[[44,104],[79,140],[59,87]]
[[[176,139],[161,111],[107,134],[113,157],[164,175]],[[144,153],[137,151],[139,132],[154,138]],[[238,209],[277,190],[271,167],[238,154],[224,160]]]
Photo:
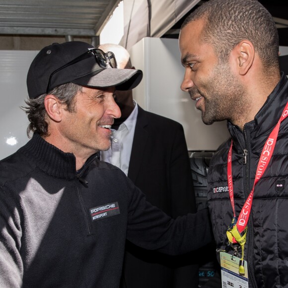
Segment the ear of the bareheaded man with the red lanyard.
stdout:
[[254,45],[249,40],[242,40],[233,48],[232,53],[234,57],[236,57],[237,70],[239,74],[245,75],[254,61]]

